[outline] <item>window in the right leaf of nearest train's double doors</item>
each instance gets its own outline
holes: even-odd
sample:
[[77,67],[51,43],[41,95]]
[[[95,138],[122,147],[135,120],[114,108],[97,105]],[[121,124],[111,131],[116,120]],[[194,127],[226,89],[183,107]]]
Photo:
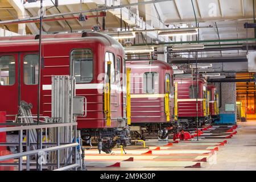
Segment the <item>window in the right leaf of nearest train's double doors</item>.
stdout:
[[38,84],[38,55],[26,55],[23,58],[23,80],[26,85]]

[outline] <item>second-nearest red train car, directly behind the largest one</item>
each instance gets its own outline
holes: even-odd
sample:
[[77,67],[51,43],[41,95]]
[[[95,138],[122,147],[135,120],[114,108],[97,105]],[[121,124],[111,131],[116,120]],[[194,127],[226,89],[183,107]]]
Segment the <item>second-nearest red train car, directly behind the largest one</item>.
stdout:
[[175,124],[172,67],[158,60],[126,61],[126,67],[131,69],[131,134],[138,138],[156,130],[166,138]]

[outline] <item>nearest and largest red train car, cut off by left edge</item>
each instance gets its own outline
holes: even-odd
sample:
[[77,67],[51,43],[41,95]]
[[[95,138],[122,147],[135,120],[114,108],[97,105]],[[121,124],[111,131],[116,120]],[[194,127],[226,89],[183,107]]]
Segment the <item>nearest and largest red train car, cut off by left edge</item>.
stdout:
[[[34,35],[0,38],[0,93],[5,96],[0,110],[6,110],[9,117],[18,114],[22,100],[31,102],[32,114],[36,114],[38,44]],[[51,76],[74,76],[76,95],[85,96],[88,105],[86,118],[77,118],[78,129],[84,139],[100,137],[102,150],[109,152],[114,138],[127,133],[123,47],[108,35],[83,32],[43,35],[42,51],[40,114],[51,117]],[[125,145],[127,138],[122,138]]]

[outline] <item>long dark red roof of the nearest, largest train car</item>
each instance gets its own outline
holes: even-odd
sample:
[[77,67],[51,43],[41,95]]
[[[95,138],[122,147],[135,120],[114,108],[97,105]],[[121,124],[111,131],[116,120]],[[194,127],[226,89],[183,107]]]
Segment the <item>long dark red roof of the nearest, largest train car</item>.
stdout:
[[[96,40],[104,46],[115,47],[125,55],[122,45],[109,35],[101,34],[99,32],[81,32],[81,33],[68,33],[68,34],[46,34],[42,35],[42,42],[65,42],[72,40]],[[39,35],[26,35],[26,36],[7,36],[0,37],[0,46],[26,46],[26,43],[38,44]]]

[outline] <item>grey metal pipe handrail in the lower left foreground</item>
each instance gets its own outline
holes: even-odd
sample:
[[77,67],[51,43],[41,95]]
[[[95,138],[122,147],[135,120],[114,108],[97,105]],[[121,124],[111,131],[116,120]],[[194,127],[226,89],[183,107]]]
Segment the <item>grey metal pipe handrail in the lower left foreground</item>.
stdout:
[[[20,118],[34,118],[34,117],[20,117]],[[48,117],[41,117],[44,118],[45,121],[47,121]],[[75,159],[74,159],[74,164],[69,164],[69,166],[64,166],[64,167],[60,167],[60,159],[59,157],[57,157],[57,161],[56,161],[56,166],[57,166],[57,171],[61,171],[61,170],[67,170],[67,169],[72,169],[75,168],[75,170],[77,169],[77,167],[79,167],[80,165],[77,164],[77,151],[76,151],[76,147],[79,146],[79,143],[76,142],[76,139],[73,140],[73,143],[60,143],[59,142],[59,137],[57,139],[57,142],[51,142],[51,143],[43,143],[42,141],[42,130],[41,129],[45,129],[45,128],[53,128],[56,127],[57,130],[60,129],[60,127],[74,127],[75,129],[75,133],[74,133],[74,138],[77,137],[76,134],[76,130],[77,130],[77,122],[72,122],[72,123],[44,123],[43,125],[33,125],[33,123],[26,123],[26,126],[13,126],[13,127],[0,127],[0,132],[6,132],[6,131],[19,131],[19,142],[18,143],[4,143],[1,142],[1,146],[13,146],[14,144],[16,144],[16,146],[19,146],[19,151],[16,154],[9,154],[9,155],[4,155],[4,156],[0,156],[0,162],[1,161],[5,161],[8,159],[16,159],[18,158],[18,164],[17,163],[8,163],[9,166],[11,166],[13,164],[13,166],[17,166],[18,165],[18,169],[21,171],[22,170],[22,157],[23,156],[27,156],[27,160],[26,160],[26,165],[27,165],[27,170],[30,170],[30,155],[38,155],[40,152],[52,152],[52,151],[57,151],[58,155],[59,155],[59,151],[60,150],[64,150],[67,148],[73,148],[74,154],[75,154]],[[39,135],[40,135],[40,149],[37,150],[27,150],[26,152],[22,152],[22,146],[25,144],[27,149],[28,147],[32,146],[34,143],[30,142],[29,139],[27,139],[26,143],[23,142],[22,138],[23,138],[23,131],[27,130],[27,135],[30,132],[30,130],[33,129],[39,129]],[[47,147],[47,148],[43,148],[43,144],[44,145],[50,145],[52,144],[52,147]],[[0,166],[5,166],[7,163],[0,163]],[[39,164],[39,169],[42,170],[42,163]]]

